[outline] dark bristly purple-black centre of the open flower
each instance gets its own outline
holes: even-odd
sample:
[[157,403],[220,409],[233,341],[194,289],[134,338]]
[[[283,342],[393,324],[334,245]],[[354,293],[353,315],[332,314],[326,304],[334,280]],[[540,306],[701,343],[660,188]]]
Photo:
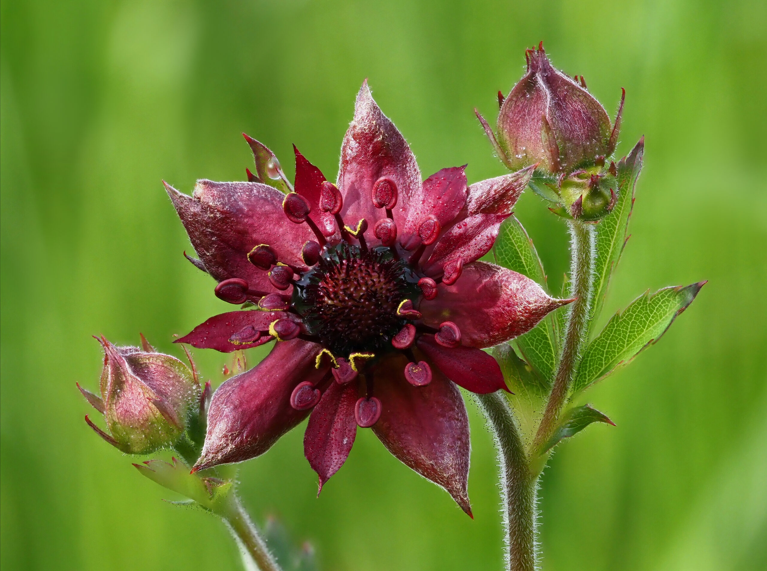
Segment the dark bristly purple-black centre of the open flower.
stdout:
[[377,352],[406,323],[397,310],[418,296],[417,281],[390,248],[364,251],[341,241],[295,282],[293,305],[307,332],[334,354]]

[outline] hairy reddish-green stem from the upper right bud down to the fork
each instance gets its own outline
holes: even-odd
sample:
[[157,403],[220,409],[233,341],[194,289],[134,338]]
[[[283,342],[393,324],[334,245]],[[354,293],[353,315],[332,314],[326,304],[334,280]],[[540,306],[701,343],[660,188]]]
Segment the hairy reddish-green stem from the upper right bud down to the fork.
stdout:
[[565,328],[565,343],[562,346],[554,386],[551,388],[546,410],[535,435],[533,450],[542,449],[554,432],[588,334],[588,309],[591,304],[591,289],[594,281],[594,225],[578,220],[569,222],[569,225],[571,295],[575,297],[575,300],[570,305]]

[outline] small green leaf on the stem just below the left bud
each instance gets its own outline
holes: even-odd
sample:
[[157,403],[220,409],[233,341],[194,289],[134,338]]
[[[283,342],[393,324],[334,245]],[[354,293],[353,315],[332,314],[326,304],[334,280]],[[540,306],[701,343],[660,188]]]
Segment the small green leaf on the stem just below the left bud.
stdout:
[[[186,464],[176,458],[172,458],[172,462],[170,464],[161,460],[149,460],[143,465],[133,464],[133,466],[150,480],[193,500],[206,510],[219,511],[225,504],[229,491],[232,490],[232,482],[189,474],[189,467]],[[181,502],[181,504],[187,505],[188,502]]]

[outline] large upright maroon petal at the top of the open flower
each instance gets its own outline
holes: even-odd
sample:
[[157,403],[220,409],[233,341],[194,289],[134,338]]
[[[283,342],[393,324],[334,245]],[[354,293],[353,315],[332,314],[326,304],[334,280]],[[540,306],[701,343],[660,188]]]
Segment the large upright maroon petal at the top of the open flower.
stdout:
[[[348,225],[365,218],[372,229],[385,217],[385,212],[374,207],[371,194],[382,176],[397,185],[399,198],[393,215],[402,228],[410,199],[420,189],[421,173],[404,137],[373,100],[365,80],[354,103],[354,120],[341,144],[337,186],[344,195],[341,215]],[[372,231],[368,234],[372,241]]]

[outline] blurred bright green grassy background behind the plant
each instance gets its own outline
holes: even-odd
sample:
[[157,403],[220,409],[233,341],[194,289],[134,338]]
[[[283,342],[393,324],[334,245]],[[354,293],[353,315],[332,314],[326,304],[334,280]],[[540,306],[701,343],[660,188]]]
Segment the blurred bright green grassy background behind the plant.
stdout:
[[[504,169],[472,113],[544,40],[647,137],[630,239],[606,312],[708,279],[657,346],[591,391],[617,423],[546,471],[543,568],[767,568],[767,4],[762,0],[2,1],[4,569],[239,569],[222,523],[171,506],[83,422],[92,334],[162,350],[229,306],[183,259],[160,179],[242,180],[245,131],[292,172],[332,178],[368,77],[427,176]],[[533,195],[518,217],[555,284],[565,229]],[[607,313],[606,313],[607,315]],[[252,351],[250,363],[263,355]],[[198,351],[221,382],[224,358]],[[476,519],[360,431],[315,499],[302,429],[242,466],[242,495],[311,540],[323,569],[499,569],[492,444],[476,407]],[[142,458],[143,459],[143,458]]]

